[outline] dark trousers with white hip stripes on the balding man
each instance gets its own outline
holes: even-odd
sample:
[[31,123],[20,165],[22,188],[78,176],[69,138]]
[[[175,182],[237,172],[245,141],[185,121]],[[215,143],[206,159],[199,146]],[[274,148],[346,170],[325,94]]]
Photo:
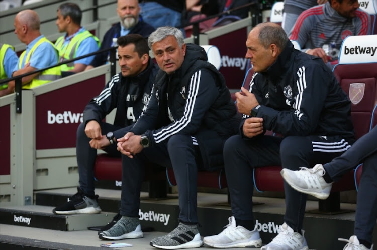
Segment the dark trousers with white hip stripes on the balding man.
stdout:
[[[326,163],[350,147],[340,137],[324,136],[260,136],[229,138],[224,146],[225,172],[236,219],[254,220],[252,212],[253,168],[281,165],[298,170]],[[284,221],[294,230],[302,229],[307,196],[284,182],[286,214]]]

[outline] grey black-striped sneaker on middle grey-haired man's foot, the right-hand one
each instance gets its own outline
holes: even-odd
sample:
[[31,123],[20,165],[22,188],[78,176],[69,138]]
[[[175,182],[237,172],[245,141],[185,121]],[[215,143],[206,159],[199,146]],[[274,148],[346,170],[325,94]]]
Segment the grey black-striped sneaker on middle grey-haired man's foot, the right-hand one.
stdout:
[[198,225],[185,225],[180,222],[169,234],[154,238],[149,243],[161,249],[197,248],[203,245]]

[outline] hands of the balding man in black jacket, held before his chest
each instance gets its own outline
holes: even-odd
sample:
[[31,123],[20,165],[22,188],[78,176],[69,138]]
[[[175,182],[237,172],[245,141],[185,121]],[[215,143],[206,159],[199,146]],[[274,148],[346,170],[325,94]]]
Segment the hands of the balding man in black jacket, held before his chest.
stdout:
[[[250,93],[244,87],[241,88],[241,92],[235,94],[237,98],[238,112],[250,115],[250,111],[259,105],[253,93]],[[243,134],[248,137],[254,137],[263,133],[263,118],[250,117],[247,118],[242,127]]]

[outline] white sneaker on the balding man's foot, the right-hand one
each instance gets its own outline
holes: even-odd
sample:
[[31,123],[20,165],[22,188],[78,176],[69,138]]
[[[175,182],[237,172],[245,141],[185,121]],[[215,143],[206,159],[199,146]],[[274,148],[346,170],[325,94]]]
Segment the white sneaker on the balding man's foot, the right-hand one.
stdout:
[[268,245],[263,246],[260,250],[309,250],[308,244],[302,234],[294,232],[286,223],[281,225],[280,233],[274,237]]

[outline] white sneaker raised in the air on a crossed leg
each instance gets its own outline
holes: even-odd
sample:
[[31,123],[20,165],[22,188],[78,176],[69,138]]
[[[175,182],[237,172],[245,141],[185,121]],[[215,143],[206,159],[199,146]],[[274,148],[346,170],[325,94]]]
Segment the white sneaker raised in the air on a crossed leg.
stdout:
[[293,189],[323,200],[329,197],[332,187],[332,183],[327,183],[322,177],[325,173],[322,164],[317,164],[313,168],[302,167],[299,171],[286,168],[280,171],[281,176]]

